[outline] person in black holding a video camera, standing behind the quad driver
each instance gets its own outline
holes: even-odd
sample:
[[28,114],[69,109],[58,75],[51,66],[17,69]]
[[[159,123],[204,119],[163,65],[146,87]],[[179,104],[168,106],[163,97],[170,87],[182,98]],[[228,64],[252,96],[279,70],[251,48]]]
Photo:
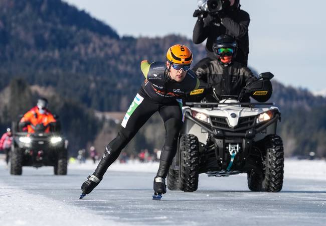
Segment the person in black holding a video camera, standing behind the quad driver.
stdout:
[[202,61],[209,61],[209,58],[216,59],[212,49],[213,42],[220,35],[226,34],[235,38],[238,43],[238,54],[234,60],[247,66],[250,17],[247,12],[240,10],[240,0],[199,0],[198,5],[200,9],[193,15],[198,17],[193,42],[200,44],[207,39],[208,58]]

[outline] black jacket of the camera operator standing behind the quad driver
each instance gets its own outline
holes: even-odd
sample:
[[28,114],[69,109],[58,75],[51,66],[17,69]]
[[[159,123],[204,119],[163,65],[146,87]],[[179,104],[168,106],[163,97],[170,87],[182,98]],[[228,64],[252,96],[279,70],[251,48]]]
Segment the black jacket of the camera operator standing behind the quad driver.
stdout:
[[200,44],[207,38],[206,50],[208,56],[214,59],[212,50],[214,40],[220,35],[230,35],[236,39],[239,47],[235,60],[247,66],[249,54],[249,23],[249,14],[240,9],[227,11],[226,16],[222,19],[219,19],[217,15],[214,17],[208,15],[204,19],[197,20],[193,33],[193,42]]

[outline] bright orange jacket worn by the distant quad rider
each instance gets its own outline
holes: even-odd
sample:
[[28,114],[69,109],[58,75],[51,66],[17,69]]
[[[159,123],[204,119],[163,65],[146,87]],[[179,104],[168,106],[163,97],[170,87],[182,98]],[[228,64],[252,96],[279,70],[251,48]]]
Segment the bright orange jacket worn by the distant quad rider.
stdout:
[[[45,114],[40,114],[39,108],[37,106],[30,109],[24,117],[21,119],[21,123],[23,122],[31,122],[33,126],[36,126],[38,124],[43,124],[44,126],[49,125],[49,123],[54,123],[56,120],[54,119],[53,115],[50,111],[45,110]],[[34,129],[31,127],[31,125],[27,126],[27,132],[28,133],[34,133]],[[45,130],[45,133],[50,132],[50,127],[48,127]]]

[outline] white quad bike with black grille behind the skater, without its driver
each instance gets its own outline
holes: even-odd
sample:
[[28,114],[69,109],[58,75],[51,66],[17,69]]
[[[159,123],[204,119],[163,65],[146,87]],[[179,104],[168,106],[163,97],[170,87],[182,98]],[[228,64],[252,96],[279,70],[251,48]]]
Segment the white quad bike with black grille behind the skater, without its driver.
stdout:
[[[200,173],[216,177],[247,173],[251,191],[282,189],[283,144],[276,135],[281,114],[274,103],[265,102],[272,94],[272,77],[270,72],[260,74],[239,96],[186,103],[178,151],[168,174],[170,190],[196,191]],[[245,95],[259,102],[240,102]]]

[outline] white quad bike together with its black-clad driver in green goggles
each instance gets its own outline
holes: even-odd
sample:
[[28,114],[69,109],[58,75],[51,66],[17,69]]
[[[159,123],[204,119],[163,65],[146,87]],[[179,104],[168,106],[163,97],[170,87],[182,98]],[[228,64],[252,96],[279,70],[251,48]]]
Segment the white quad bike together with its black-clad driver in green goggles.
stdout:
[[[250,190],[278,192],[284,167],[283,144],[276,135],[280,111],[259,107],[273,105],[265,102],[272,94],[273,75],[266,72],[256,78],[233,62],[237,44],[232,37],[218,37],[213,48],[217,59],[194,68],[201,87],[188,98],[197,102],[183,108],[185,121],[168,188],[196,191],[200,173],[247,173]],[[251,103],[249,97],[262,103]]]

